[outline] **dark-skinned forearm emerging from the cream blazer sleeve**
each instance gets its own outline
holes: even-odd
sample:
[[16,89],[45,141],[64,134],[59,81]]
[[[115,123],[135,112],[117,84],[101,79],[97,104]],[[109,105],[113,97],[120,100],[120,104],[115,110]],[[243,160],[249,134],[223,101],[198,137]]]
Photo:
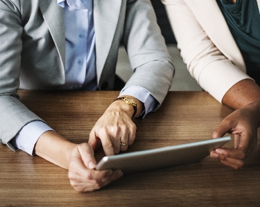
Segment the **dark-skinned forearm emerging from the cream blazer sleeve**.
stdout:
[[251,102],[260,100],[260,87],[250,79],[234,84],[223,97],[223,104],[232,109],[240,109]]

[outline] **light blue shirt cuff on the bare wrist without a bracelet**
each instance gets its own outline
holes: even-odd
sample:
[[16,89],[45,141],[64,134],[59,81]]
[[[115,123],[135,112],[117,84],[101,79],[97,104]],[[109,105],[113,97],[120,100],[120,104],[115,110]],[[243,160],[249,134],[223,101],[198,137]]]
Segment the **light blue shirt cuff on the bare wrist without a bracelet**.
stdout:
[[40,120],[35,120],[25,125],[18,132],[18,134],[12,138],[10,144],[16,149],[23,150],[24,152],[27,152],[31,155],[35,155],[33,154],[35,143],[37,142],[38,138],[40,138],[40,136],[47,131],[54,130],[46,125],[46,123],[43,123]]

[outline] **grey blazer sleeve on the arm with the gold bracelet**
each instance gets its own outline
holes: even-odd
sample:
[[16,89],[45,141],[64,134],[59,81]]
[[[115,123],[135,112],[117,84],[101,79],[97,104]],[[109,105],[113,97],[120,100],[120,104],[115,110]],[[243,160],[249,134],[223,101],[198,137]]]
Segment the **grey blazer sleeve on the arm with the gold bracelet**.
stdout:
[[171,56],[150,1],[128,1],[125,12],[123,45],[134,73],[124,89],[143,87],[157,100],[157,109],[173,80]]

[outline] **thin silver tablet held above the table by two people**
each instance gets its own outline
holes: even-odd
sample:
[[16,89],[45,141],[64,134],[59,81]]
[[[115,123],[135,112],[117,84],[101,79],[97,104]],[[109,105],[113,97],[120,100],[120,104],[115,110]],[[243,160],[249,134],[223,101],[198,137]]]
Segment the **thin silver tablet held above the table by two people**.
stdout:
[[96,165],[96,170],[121,169],[124,174],[128,174],[198,162],[208,156],[211,150],[221,147],[230,140],[230,136],[225,136],[153,150],[105,156]]

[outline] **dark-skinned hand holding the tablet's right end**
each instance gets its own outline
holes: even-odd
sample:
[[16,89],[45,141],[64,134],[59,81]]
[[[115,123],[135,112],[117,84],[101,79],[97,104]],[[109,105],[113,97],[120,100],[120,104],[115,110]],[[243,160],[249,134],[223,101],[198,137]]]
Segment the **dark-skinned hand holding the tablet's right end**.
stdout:
[[260,101],[252,102],[229,114],[212,133],[212,138],[234,134],[234,149],[218,148],[211,157],[218,158],[223,164],[242,168],[257,147],[257,128],[260,125]]

